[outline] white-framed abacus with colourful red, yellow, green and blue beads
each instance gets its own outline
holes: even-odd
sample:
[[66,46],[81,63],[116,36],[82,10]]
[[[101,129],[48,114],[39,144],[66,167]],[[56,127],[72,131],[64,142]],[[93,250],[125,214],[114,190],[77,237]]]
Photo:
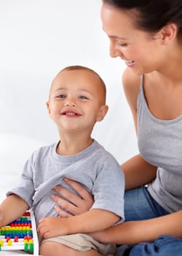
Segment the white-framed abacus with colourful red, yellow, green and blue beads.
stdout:
[[24,250],[33,255],[39,255],[36,224],[32,211],[26,211],[20,219],[0,228],[0,251],[8,250]]

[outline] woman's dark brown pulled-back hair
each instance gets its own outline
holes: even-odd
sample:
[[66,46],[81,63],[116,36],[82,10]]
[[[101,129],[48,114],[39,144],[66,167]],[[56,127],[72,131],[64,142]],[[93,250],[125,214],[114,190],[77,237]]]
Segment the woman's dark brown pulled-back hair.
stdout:
[[175,23],[182,35],[181,0],[103,0],[104,4],[122,10],[134,10],[135,25],[144,31],[156,32],[167,23]]

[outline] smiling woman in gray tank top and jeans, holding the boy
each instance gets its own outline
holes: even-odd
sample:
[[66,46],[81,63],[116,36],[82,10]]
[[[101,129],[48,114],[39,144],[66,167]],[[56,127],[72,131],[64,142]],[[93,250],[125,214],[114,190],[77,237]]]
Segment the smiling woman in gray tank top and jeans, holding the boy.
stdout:
[[[127,65],[123,86],[140,154],[122,165],[126,222],[93,236],[127,244],[119,255],[182,255],[182,1],[103,0],[101,20],[111,57]],[[90,208],[92,197],[67,182],[82,199],[59,187],[74,204],[54,200],[72,214]]]

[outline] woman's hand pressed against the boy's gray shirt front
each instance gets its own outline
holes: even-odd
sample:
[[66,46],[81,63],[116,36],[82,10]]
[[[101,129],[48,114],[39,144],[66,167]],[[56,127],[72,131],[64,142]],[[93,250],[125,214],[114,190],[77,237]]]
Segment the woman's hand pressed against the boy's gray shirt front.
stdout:
[[[90,195],[87,189],[82,187],[79,182],[73,181],[68,178],[64,178],[64,181],[66,184],[68,184],[68,186],[74,189],[80,195],[80,197],[70,192],[68,189],[65,189],[64,187],[55,187],[55,192],[57,192],[69,201],[68,202],[67,200],[64,200],[58,195],[52,195],[52,200],[54,200],[59,206],[61,206],[61,208],[58,205],[55,206],[55,211],[61,217],[70,217],[72,215],[79,215],[83,214],[85,211],[88,211],[94,202],[92,195]],[[63,211],[63,208],[66,209],[66,211]]]

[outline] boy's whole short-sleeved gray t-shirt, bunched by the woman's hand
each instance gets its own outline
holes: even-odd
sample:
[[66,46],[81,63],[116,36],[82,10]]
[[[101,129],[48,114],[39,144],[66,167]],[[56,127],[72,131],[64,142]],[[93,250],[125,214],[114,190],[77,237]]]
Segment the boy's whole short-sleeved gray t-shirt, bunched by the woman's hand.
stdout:
[[[7,195],[17,194],[33,207],[36,223],[42,217],[58,216],[50,196],[60,184],[70,189],[64,177],[79,181],[94,196],[93,208],[114,212],[124,220],[124,174],[119,163],[97,141],[71,156],[56,153],[58,143],[33,152],[25,163],[20,182]],[[72,192],[76,193],[74,190]]]

